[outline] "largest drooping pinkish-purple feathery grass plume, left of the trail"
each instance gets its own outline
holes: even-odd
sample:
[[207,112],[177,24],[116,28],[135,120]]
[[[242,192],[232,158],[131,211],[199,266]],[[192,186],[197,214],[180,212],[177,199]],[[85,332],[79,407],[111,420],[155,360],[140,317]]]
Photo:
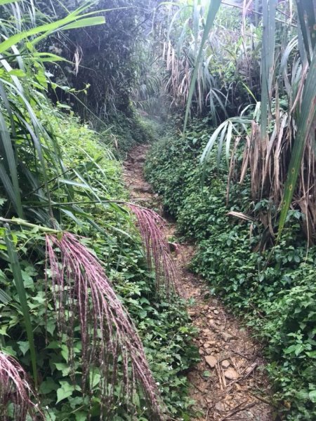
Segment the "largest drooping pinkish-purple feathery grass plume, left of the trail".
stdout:
[[68,338],[70,364],[72,327],[74,319],[80,321],[84,394],[91,394],[91,368],[100,370],[100,420],[111,419],[114,389],[120,387],[121,400],[132,403],[136,383],[143,389],[150,419],[163,420],[164,409],[142,342],[97,258],[68,232],[46,234],[46,269],[46,283],[52,282],[58,309],[58,327]]

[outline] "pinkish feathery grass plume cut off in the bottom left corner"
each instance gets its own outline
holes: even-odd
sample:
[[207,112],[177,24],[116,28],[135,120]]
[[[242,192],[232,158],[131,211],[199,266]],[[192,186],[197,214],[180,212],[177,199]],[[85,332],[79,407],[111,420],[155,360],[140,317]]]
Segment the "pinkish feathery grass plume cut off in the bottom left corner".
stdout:
[[[27,374],[18,361],[0,351],[0,419],[7,420],[8,406],[13,403],[13,419],[16,421],[42,420],[43,414],[31,400],[32,387]],[[11,419],[11,418],[10,418]]]

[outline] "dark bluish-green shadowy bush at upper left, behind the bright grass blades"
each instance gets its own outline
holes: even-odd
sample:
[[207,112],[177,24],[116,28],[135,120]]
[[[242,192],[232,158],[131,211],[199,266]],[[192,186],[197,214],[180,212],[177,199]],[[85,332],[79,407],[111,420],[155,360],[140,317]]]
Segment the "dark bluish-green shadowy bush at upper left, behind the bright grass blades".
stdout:
[[[37,0],[45,15],[58,17],[85,3],[84,0],[67,0],[51,4]],[[79,91],[79,102],[69,91],[57,90],[56,93],[61,102],[74,102],[74,109],[81,117],[93,120],[96,114],[102,121],[113,122],[121,113],[129,117],[131,93],[138,84],[136,48],[145,39],[155,2],[99,0],[89,2],[89,6],[90,11],[105,15],[106,24],[100,30],[98,27],[78,29],[67,32],[65,37],[50,37],[46,41],[50,50],[62,51],[70,62],[77,57],[77,67],[69,62],[61,67],[50,67],[51,77],[59,86]]]

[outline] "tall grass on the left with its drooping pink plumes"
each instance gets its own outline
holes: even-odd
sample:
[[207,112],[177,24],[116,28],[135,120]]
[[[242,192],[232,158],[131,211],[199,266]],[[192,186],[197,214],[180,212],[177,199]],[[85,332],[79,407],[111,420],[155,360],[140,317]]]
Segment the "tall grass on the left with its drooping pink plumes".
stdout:
[[[83,151],[88,164],[65,165],[58,138],[60,133],[55,130],[62,116],[53,111],[46,96],[48,88],[56,86],[45,68],[46,62],[64,59],[36,49],[44,46],[43,41],[51,34],[103,24],[104,17],[93,16],[97,12],[88,11],[92,4],[81,6],[55,22],[43,23],[43,15],[37,12],[32,1],[0,3],[3,11],[1,33],[6,34],[0,43],[0,192],[5,196],[1,201],[0,222],[4,224],[6,233],[4,259],[11,266],[24,319],[34,387],[37,389],[39,383],[33,333],[35,326],[32,326],[14,233],[9,225],[17,230],[33,229],[46,234],[46,300],[53,296],[60,343],[67,342],[68,362],[72,367],[74,323],[79,320],[81,392],[83,397],[93,397],[91,373],[97,373],[100,377],[100,393],[96,398],[100,400],[100,419],[112,419],[118,393],[133,413],[139,393],[142,399],[145,396],[152,419],[162,420],[166,410],[136,327],[117,298],[100,262],[77,236],[63,230],[70,221],[72,226],[81,228],[78,219],[81,218],[97,229],[105,240],[111,240],[105,229],[101,229],[80,207],[79,198],[84,198],[85,204],[98,205],[103,210],[113,208],[125,219],[128,215],[126,209],[120,206],[125,203],[109,200],[106,175],[88,152]],[[110,151],[104,149],[104,152],[112,156]],[[103,183],[89,178],[91,168],[103,173]],[[162,220],[150,210],[140,209],[131,203],[128,206],[138,219],[140,232],[148,247],[147,258],[153,262],[152,268],[156,272],[157,287],[164,276],[168,292],[174,278],[174,266],[168,243],[162,236]],[[103,225],[107,226],[107,222]],[[109,222],[108,226],[113,231],[117,229],[119,235],[128,235],[115,227],[114,222]],[[41,243],[37,243],[36,254],[44,254]],[[0,290],[1,301],[9,302],[10,299]],[[0,352],[0,408],[3,406],[6,410],[10,405],[12,396],[8,389],[13,384],[18,399],[17,410],[22,411],[17,419],[24,421],[27,415],[32,417],[34,405],[27,397],[27,393],[30,396],[32,393],[24,380],[24,372],[19,370],[10,358],[2,358]],[[72,378],[76,375],[73,372]]]

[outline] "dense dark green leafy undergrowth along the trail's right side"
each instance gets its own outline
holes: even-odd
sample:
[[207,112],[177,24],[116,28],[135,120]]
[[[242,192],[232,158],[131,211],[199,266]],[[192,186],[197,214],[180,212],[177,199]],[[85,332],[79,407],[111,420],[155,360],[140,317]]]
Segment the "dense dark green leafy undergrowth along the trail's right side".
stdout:
[[[265,225],[269,214],[275,221],[277,210],[267,200],[251,200],[247,177],[242,185],[230,185],[227,204],[227,166],[223,156],[218,166],[215,151],[202,187],[199,158],[209,139],[208,123],[193,122],[185,138],[171,129],[156,142],[147,159],[147,180],[162,194],[166,213],[176,218],[178,234],[197,243],[192,271],[264,341],[275,412],[291,421],[315,420],[316,248],[307,250],[303,215],[291,210],[282,240],[271,249]],[[236,156],[237,168],[242,157]]]

